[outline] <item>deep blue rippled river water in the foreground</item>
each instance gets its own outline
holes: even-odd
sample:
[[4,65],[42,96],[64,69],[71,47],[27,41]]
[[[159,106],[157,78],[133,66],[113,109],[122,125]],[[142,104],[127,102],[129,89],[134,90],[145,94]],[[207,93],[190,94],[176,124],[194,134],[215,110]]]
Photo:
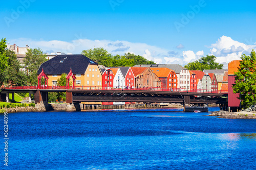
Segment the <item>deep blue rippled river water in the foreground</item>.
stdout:
[[9,113],[8,167],[1,142],[0,169],[256,169],[256,120],[206,115],[182,108]]

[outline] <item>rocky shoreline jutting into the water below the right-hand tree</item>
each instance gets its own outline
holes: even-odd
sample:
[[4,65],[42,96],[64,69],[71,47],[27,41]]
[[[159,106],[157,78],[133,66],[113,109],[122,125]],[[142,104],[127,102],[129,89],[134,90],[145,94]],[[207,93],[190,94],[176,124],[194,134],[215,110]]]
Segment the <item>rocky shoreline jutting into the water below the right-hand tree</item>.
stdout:
[[256,114],[248,111],[228,112],[228,111],[215,111],[208,116],[219,116],[219,118],[241,118],[241,119],[256,119]]

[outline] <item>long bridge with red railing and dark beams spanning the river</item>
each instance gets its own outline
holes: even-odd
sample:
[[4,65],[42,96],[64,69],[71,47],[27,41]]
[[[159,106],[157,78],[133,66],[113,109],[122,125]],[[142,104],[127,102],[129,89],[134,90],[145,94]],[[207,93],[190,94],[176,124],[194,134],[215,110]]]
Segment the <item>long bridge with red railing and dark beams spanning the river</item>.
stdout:
[[48,92],[66,92],[67,103],[79,102],[144,102],[144,103],[223,103],[228,91],[177,88],[130,87],[59,87],[59,86],[2,86],[1,101],[9,93],[35,94],[35,103],[48,102]]

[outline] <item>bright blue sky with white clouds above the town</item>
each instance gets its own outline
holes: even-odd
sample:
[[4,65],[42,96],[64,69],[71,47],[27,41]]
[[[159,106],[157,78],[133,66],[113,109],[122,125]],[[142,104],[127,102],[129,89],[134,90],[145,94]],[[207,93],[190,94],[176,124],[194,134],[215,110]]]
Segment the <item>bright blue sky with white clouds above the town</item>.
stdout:
[[227,63],[256,47],[254,1],[4,1],[0,38],[45,53],[103,47],[163,64],[215,55]]

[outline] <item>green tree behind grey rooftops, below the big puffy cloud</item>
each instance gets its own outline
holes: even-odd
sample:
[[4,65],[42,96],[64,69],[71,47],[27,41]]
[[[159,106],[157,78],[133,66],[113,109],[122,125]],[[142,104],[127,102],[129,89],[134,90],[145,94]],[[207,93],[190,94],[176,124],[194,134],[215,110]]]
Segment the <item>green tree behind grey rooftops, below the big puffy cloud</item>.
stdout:
[[206,57],[201,57],[199,60],[187,63],[184,67],[189,70],[201,70],[204,69],[223,69],[223,64],[215,62],[217,58],[212,55],[207,55]]

